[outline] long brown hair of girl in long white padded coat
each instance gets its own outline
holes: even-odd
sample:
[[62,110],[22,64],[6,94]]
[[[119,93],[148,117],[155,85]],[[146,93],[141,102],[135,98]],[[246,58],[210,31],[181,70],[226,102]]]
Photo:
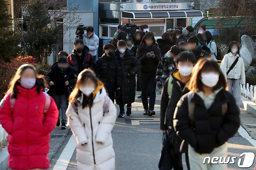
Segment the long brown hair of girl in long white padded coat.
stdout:
[[[81,90],[79,90],[79,87],[81,86],[81,84],[84,82],[84,80],[92,80],[95,83],[95,86],[98,85],[98,78],[96,77],[95,73],[91,70],[91,69],[84,69],[77,78],[77,82],[75,84],[75,88],[72,91],[72,93],[69,96],[69,102],[74,103],[77,105],[77,99],[79,97],[82,97],[82,92]],[[82,100],[82,108],[84,108],[85,106],[92,106],[93,105],[93,94],[86,96],[83,95],[83,100]]]

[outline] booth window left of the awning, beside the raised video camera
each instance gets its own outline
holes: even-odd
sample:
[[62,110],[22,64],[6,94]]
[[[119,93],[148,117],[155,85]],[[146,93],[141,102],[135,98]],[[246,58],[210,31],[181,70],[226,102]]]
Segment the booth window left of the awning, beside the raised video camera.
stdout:
[[100,24],[100,38],[113,39],[114,33],[117,31],[117,25]]

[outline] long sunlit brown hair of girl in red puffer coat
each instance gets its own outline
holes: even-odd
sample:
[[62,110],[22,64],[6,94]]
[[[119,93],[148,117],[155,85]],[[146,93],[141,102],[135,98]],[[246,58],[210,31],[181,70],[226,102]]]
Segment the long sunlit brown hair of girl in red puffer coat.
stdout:
[[17,99],[18,97],[18,92],[17,92],[17,85],[20,85],[19,81],[21,80],[21,75],[26,69],[32,69],[35,73],[36,76],[36,82],[35,86],[37,86],[37,93],[40,94],[42,91],[42,88],[46,87],[46,81],[44,79],[43,75],[38,75],[37,70],[35,67],[31,64],[23,64],[21,65],[18,70],[16,71],[15,75],[12,77],[11,82],[9,83],[8,90],[5,94],[12,94],[12,97]]

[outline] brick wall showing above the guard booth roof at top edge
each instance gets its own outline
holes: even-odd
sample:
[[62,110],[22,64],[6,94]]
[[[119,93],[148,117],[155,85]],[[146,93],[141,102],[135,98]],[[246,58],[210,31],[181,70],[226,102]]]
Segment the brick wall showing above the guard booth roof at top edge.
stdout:
[[[120,0],[99,0],[99,2],[120,2]],[[122,0],[126,2],[126,0]],[[127,0],[129,2],[129,0]],[[132,0],[133,1],[133,0]],[[151,2],[170,2],[170,0],[151,0]],[[194,8],[202,10],[209,10],[210,8],[217,8],[219,0],[172,0],[172,2],[194,2]]]

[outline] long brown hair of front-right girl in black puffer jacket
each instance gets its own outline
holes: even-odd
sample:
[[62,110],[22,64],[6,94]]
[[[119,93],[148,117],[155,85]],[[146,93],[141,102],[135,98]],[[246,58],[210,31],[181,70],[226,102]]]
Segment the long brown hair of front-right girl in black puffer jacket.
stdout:
[[203,91],[203,83],[201,81],[201,74],[204,71],[214,70],[219,73],[219,81],[217,84],[213,87],[213,90],[217,90],[219,88],[223,88],[228,90],[228,86],[226,83],[226,78],[224,77],[221,69],[219,68],[219,65],[217,62],[210,58],[202,58],[200,59],[196,65],[194,66],[191,78],[187,84],[187,87],[190,91],[193,92],[199,92]]

